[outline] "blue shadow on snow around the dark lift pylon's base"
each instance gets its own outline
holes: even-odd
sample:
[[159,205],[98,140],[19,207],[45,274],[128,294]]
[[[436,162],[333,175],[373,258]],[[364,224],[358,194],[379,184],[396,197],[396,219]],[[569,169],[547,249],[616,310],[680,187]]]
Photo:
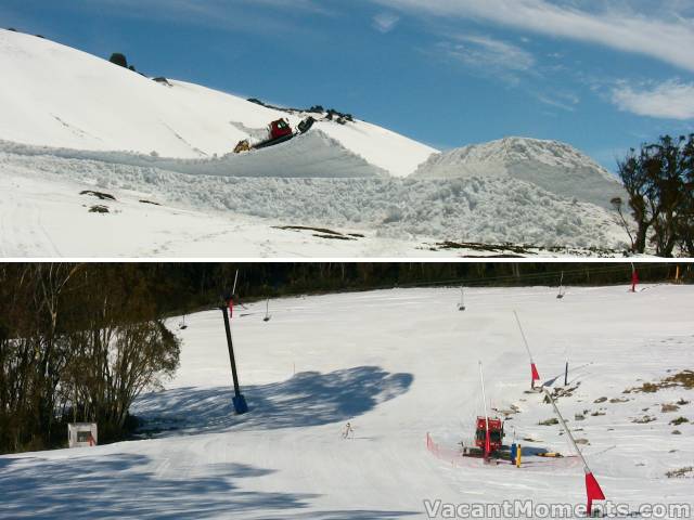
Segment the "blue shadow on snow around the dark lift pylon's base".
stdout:
[[411,374],[360,366],[330,374],[304,372],[286,381],[242,387],[249,412],[234,415],[233,389],[178,388],[140,398],[132,412],[143,434],[215,433],[234,428],[278,429],[319,426],[373,410],[412,385]]

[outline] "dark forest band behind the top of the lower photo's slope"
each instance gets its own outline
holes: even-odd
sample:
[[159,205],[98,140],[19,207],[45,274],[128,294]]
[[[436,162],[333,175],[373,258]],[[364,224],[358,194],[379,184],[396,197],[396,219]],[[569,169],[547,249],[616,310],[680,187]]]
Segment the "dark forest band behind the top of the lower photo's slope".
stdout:
[[[643,282],[674,280],[677,265],[637,263]],[[370,290],[436,285],[527,286],[628,284],[630,263],[432,263],[432,262],[297,262],[297,263],[164,263],[140,264],[157,281],[158,308],[169,315],[210,309],[232,290],[236,271],[237,299],[252,301],[301,294]],[[680,277],[692,281],[693,266],[683,263]]]

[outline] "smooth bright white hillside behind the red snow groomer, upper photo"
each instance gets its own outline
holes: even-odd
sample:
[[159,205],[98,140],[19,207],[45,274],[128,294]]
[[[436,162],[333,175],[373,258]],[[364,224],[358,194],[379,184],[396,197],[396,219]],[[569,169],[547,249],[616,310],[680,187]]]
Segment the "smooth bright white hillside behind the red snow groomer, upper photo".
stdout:
[[[155,82],[85,52],[4,29],[0,69],[0,139],[17,143],[200,158],[227,154],[240,140],[265,134],[273,119],[287,117],[293,125],[301,119],[196,84]],[[363,121],[320,121],[314,128],[334,140],[320,146],[344,148],[399,177],[436,152]]]

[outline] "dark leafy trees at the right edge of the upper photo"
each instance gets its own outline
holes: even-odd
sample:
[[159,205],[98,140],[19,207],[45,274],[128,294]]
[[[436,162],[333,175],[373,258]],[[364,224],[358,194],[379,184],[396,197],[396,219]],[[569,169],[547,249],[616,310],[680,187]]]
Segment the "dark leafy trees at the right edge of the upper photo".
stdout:
[[660,257],[694,257],[694,134],[665,135],[657,143],[643,144],[617,167],[637,223],[633,233],[622,216],[624,202],[614,198],[612,203],[622,217],[632,250],[644,252],[650,242]]

